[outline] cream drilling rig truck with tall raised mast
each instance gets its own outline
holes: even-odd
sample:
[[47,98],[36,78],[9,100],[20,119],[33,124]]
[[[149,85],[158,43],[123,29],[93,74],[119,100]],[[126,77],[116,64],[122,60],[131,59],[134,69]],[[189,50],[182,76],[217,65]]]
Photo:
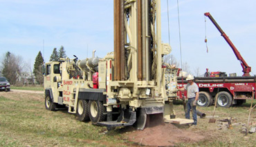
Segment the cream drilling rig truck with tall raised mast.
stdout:
[[46,63],[45,106],[66,106],[99,126],[143,129],[152,116],[174,116],[178,69],[163,63],[171,47],[161,40],[161,1],[113,2],[114,51]]

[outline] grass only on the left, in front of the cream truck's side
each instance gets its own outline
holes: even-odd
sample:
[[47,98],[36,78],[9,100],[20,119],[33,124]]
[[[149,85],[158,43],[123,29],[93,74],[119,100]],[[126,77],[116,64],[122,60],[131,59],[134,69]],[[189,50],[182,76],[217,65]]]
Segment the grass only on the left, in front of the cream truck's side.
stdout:
[[78,121],[66,110],[44,108],[44,95],[0,93],[0,146],[109,146],[124,144],[105,128]]

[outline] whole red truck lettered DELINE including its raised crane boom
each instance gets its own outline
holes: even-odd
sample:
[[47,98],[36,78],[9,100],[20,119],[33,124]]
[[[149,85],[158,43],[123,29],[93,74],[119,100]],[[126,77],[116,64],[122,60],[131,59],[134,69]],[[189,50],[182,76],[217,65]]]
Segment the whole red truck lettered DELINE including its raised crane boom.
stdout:
[[[255,99],[253,92],[256,88],[256,77],[250,77],[251,68],[246,61],[241,57],[239,51],[234,46],[232,41],[228,38],[225,32],[221,29],[218,23],[213,19],[209,12],[205,16],[212,21],[214,26],[221,32],[221,36],[227,41],[228,45],[232,48],[235,56],[241,63],[244,75],[243,77],[226,77],[225,72],[205,72],[205,77],[195,77],[194,81],[199,86],[199,101],[198,106],[210,106],[214,100],[217,100],[219,107],[229,108],[232,104],[241,105],[246,102],[246,99]],[[178,78],[179,88],[186,85],[181,78]],[[218,97],[216,95],[218,94]],[[179,92],[179,97],[186,96]]]

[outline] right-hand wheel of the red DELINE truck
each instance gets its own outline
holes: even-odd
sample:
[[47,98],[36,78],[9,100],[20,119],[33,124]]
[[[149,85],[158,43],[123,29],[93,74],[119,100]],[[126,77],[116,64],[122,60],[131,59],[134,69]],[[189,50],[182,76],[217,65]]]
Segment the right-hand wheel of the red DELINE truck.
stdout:
[[[217,95],[216,95],[217,96]],[[232,95],[226,91],[221,91],[218,94],[218,97],[215,96],[215,100],[217,100],[217,106],[223,108],[230,108],[232,106]]]

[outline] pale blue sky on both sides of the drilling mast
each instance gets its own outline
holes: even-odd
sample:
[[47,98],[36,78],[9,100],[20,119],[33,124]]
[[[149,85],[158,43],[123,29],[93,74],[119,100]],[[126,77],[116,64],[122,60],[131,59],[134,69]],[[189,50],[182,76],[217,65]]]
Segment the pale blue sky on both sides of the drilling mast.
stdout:
[[[98,57],[113,51],[112,0],[0,0],[0,57],[10,51],[34,63],[39,50],[48,61],[53,48],[64,46],[68,57]],[[167,1],[162,0],[162,40],[168,39]],[[169,0],[172,55],[180,61],[176,0]],[[206,18],[209,52],[206,52],[204,12],[210,12],[256,74],[256,1],[179,0],[183,63],[194,72],[237,72],[241,65],[218,30]]]

